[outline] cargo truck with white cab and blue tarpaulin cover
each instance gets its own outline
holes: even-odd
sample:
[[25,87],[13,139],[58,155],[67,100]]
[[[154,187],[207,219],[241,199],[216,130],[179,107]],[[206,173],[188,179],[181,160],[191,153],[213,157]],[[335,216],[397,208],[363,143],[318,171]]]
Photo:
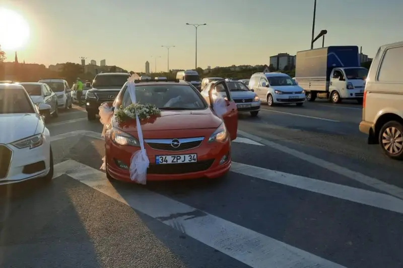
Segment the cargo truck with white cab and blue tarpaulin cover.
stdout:
[[297,52],[295,81],[306,100],[328,99],[362,103],[368,69],[360,67],[358,46],[329,46]]

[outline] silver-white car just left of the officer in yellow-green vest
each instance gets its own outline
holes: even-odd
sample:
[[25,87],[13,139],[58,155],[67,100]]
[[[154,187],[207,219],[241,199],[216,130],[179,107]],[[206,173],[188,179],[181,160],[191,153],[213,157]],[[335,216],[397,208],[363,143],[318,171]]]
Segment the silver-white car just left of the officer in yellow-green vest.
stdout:
[[66,80],[60,78],[46,78],[39,80],[38,83],[47,84],[56,94],[58,108],[67,110],[73,107],[72,89]]

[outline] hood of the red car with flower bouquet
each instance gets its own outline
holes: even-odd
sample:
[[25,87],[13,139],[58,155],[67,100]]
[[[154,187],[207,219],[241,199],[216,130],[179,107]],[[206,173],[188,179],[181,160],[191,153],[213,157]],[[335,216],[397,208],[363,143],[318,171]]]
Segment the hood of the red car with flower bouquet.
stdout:
[[[215,116],[210,109],[196,111],[161,111],[161,117],[153,123],[142,124],[143,131],[158,130],[184,130],[218,128],[222,120]],[[114,126],[124,132],[137,131],[136,124],[119,125],[114,121]]]

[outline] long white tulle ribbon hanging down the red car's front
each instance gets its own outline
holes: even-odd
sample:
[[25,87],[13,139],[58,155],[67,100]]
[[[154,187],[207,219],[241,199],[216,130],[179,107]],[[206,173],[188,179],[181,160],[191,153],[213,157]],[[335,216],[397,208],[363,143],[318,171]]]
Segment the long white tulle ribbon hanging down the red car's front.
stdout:
[[[136,103],[136,85],[133,80],[129,80],[127,83],[127,90],[130,95],[131,103]],[[146,184],[147,182],[147,168],[150,164],[150,160],[147,157],[146,149],[144,148],[144,139],[142,126],[140,124],[139,115],[136,112],[136,126],[137,135],[140,142],[140,150],[131,155],[130,158],[130,180],[139,184]]]

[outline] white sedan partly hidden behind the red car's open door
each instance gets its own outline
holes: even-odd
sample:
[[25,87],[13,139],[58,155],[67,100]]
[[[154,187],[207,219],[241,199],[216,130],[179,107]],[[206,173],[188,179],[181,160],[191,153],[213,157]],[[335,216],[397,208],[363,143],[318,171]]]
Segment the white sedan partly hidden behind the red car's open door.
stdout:
[[[215,85],[216,81],[210,82],[204,91],[201,92],[205,98],[209,96],[209,92]],[[250,113],[255,117],[260,111],[260,99],[259,97],[242,82],[225,80],[227,87],[229,88],[231,98],[236,103],[238,113]],[[225,98],[225,88],[222,84],[216,86],[218,91],[212,91],[213,99]]]

